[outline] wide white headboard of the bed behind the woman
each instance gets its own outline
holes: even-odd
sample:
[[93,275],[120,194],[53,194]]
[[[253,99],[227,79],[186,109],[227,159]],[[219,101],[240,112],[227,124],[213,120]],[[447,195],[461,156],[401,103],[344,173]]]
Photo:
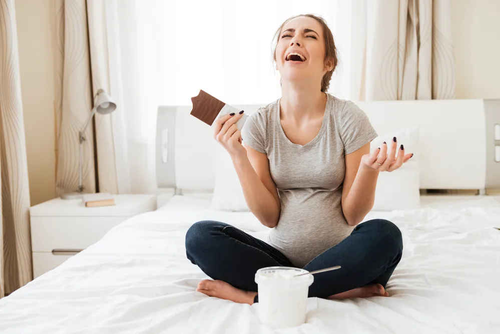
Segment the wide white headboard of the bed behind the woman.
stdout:
[[[421,189],[500,187],[500,100],[355,102],[381,133],[419,127]],[[235,106],[253,113],[260,106]],[[160,106],[157,125],[159,188],[212,190],[216,145],[212,128],[191,106]],[[495,147],[497,146],[497,147]],[[500,160],[500,156],[497,157]]]

